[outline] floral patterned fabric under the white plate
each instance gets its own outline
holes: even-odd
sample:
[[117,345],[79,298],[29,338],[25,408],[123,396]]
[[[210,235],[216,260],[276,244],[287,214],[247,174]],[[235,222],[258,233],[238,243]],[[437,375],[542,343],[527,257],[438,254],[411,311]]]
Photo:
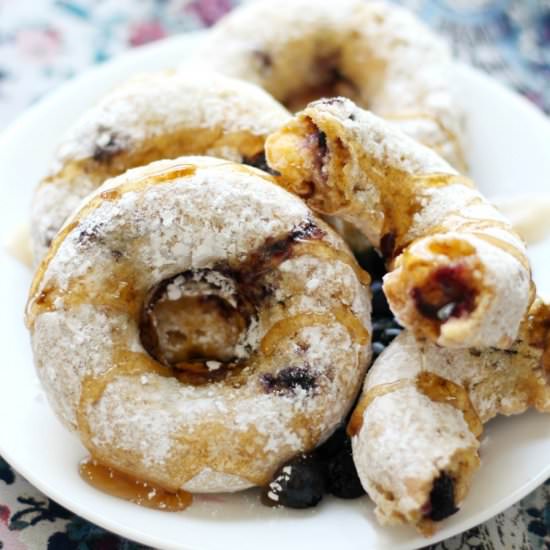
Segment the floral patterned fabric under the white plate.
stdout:
[[[338,0],[334,0],[337,2]],[[87,67],[209,26],[238,0],[0,0],[0,129]],[[455,54],[550,113],[550,0],[401,0]],[[0,549],[134,550],[40,494],[0,457]],[[432,550],[550,548],[550,481]]]

